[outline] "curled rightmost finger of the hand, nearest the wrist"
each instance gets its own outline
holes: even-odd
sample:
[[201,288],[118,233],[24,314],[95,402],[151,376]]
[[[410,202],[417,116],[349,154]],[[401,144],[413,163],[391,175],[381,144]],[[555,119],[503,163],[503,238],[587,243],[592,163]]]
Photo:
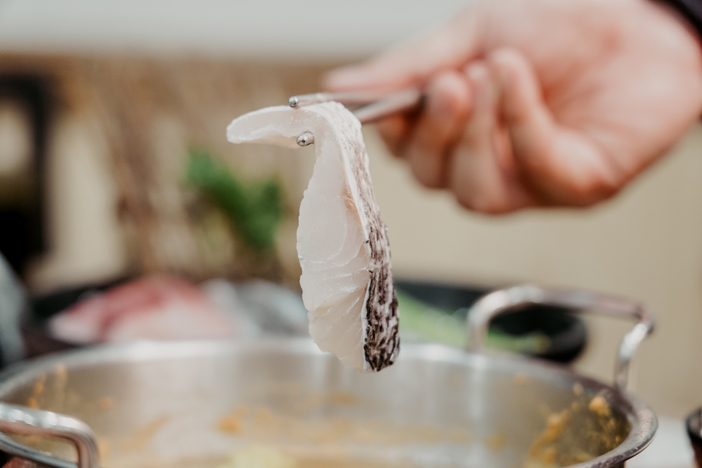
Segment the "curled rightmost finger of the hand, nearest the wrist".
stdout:
[[527,58],[502,48],[491,53],[489,63],[501,83],[500,112],[515,168],[538,199],[584,206],[616,192],[616,168],[585,133],[557,123]]

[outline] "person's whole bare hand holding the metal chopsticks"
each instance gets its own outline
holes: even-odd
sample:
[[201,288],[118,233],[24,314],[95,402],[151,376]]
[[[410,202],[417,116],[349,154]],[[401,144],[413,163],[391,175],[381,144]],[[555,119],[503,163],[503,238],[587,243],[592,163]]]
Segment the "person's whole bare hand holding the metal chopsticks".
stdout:
[[422,112],[379,127],[423,185],[482,213],[588,206],[702,114],[702,53],[649,0],[492,0],[326,76],[329,91],[408,86]]

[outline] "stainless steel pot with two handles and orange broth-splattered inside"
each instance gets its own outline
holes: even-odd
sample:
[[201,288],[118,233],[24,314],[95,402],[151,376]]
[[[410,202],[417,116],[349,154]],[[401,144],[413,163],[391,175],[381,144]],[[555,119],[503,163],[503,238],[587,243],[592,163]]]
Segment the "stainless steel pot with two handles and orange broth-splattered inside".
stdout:
[[[637,321],[621,342],[614,385],[479,352],[493,316],[535,303]],[[100,441],[111,448],[112,467],[175,467],[257,440],[312,457],[487,468],[522,466],[541,447],[534,457],[572,462],[588,453],[595,457],[574,466],[600,468],[623,467],[653,439],[654,413],[625,391],[630,359],[653,328],[644,308],[519,286],[486,295],[469,318],[472,352],[403,345],[392,368],[371,375],[297,339],[149,342],[39,359],[0,375],[0,450],[16,457],[8,468],[95,468]],[[547,423],[549,413],[557,417]]]

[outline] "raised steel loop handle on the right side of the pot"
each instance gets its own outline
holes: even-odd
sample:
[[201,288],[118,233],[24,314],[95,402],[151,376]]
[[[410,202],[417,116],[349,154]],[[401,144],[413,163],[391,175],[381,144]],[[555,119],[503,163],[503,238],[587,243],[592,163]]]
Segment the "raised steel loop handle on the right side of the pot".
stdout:
[[624,335],[614,366],[614,385],[625,391],[629,380],[629,366],[636,350],[645,337],[654,330],[654,318],[638,302],[581,290],[550,289],[524,285],[493,291],[481,297],[468,311],[470,350],[481,352],[490,321],[500,314],[526,305],[550,305],[600,312],[620,319],[631,319],[637,324]]

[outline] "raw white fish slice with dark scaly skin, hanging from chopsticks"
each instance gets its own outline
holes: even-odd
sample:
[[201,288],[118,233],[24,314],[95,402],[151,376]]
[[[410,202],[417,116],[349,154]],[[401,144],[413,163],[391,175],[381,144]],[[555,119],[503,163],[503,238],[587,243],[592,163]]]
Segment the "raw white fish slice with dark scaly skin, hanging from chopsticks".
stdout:
[[300,203],[300,286],[310,335],[345,366],[372,372],[399,352],[390,244],[373,196],[361,123],[338,102],[276,106],[234,119],[233,143],[297,147],[314,135],[317,162]]

